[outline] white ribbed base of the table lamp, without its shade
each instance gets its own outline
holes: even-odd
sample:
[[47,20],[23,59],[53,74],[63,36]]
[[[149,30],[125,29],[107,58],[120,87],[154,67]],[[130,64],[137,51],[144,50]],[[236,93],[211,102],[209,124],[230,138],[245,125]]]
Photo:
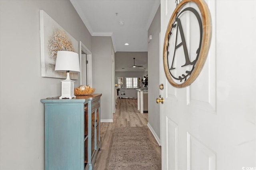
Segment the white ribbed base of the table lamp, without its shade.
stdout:
[[74,82],[75,81],[70,79],[69,73],[68,73],[67,79],[61,81],[61,96],[60,96],[60,99],[76,98],[76,96],[74,95]]

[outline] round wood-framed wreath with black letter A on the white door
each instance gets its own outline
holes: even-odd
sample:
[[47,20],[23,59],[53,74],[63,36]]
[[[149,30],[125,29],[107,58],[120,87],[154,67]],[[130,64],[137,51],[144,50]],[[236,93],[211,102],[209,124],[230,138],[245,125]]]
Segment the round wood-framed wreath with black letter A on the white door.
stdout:
[[[182,27],[184,23],[189,27]],[[204,0],[182,0],[172,13],[164,38],[164,72],[172,86],[186,87],[195,81],[206,61],[211,36],[211,17]]]

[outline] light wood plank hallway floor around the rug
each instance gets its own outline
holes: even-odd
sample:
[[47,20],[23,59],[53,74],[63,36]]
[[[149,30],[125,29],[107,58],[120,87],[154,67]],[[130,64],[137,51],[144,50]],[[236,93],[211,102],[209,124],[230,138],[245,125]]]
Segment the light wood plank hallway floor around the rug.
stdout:
[[96,156],[95,170],[108,170],[114,130],[118,127],[144,127],[156,154],[161,156],[161,147],[147,127],[148,114],[139,113],[137,99],[119,99],[116,105],[116,113],[113,114],[113,121],[113,123],[100,123],[102,146]]

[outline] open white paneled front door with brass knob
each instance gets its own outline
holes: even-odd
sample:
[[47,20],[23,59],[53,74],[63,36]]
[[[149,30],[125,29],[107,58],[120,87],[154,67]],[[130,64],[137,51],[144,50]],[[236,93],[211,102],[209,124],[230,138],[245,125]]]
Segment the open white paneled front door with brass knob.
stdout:
[[[166,79],[162,54],[176,1],[161,0],[162,169],[255,170],[256,1],[206,3],[212,17],[206,63],[192,85],[175,88]],[[183,17],[190,53],[194,45],[193,18],[190,14]],[[184,60],[177,59],[175,64],[182,65]]]

